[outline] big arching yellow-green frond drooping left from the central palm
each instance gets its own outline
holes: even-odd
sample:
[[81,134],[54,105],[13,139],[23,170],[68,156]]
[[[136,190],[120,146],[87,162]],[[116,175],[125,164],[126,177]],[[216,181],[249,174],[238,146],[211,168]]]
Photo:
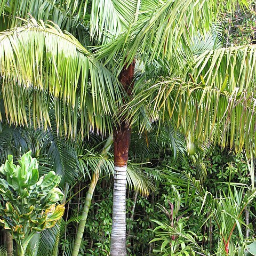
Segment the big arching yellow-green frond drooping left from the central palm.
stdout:
[[[0,52],[0,69],[5,88],[3,97],[6,99],[6,115],[11,123],[28,123],[24,115],[24,102],[15,93],[12,94],[14,98],[7,97],[12,91],[13,83],[17,82],[22,90],[26,88],[29,91],[33,85],[38,90],[37,94],[47,92],[60,99],[59,105],[62,103],[66,113],[72,113],[73,110],[75,113],[79,112],[81,122],[85,124],[81,125],[82,132],[88,126],[91,131],[94,128],[98,132],[106,131],[108,115],[118,108],[117,99],[121,95],[118,82],[107,69],[90,57],[90,53],[73,36],[31,19],[21,28],[0,34]],[[29,101],[29,93],[27,95]],[[8,108],[7,104],[13,106],[15,98],[18,109]],[[40,106],[42,108],[37,105],[40,100],[44,102]],[[34,119],[39,123],[43,121],[49,124],[49,101],[43,100],[42,96],[34,101],[33,105],[29,105]],[[60,111],[59,108],[60,106],[55,108],[57,112]],[[59,124],[62,123],[58,120],[60,117],[61,115],[56,115]],[[67,133],[73,136],[75,134],[72,134],[71,127],[77,125],[74,120],[71,122],[68,119],[67,129]],[[89,130],[86,132],[90,132]]]

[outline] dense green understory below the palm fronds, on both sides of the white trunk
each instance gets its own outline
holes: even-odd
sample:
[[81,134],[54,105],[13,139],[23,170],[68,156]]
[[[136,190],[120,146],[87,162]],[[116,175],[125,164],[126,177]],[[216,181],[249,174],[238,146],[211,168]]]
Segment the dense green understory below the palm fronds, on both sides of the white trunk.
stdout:
[[[15,135],[14,131],[17,132]],[[151,134],[142,140],[142,144],[135,139],[131,142],[129,166],[131,169],[139,168],[141,177],[138,179],[143,179],[142,183],[150,189],[150,193],[144,192],[143,195],[132,186],[127,187],[127,254],[226,255],[228,248],[227,255],[254,255],[256,190],[253,159],[219,147],[210,147],[206,151],[196,147],[197,153],[189,155],[187,148],[183,147],[183,138],[172,134],[172,130],[166,136],[166,131],[159,137]],[[8,141],[13,138],[13,149],[26,151],[35,146],[29,146],[29,141],[26,141],[28,137],[23,140],[18,130],[10,129],[8,134]],[[147,146],[147,140],[151,148]],[[22,146],[17,142],[22,142]],[[60,144],[63,146],[65,143],[68,142],[62,140]],[[94,143],[98,144],[99,141]],[[66,147],[65,150],[71,150],[69,143]],[[75,150],[76,147],[73,147]],[[2,147],[3,156],[6,150],[8,154],[11,153],[10,145]],[[44,150],[47,152],[49,149],[46,147]],[[67,152],[62,147],[55,150],[63,155],[63,158],[57,157],[55,164],[65,166]],[[33,155],[36,154],[34,151]],[[106,169],[92,197],[79,255],[106,256],[110,253],[113,177],[108,169],[113,163],[108,157],[111,159],[111,150],[108,154],[105,161],[109,163],[105,164]],[[101,159],[92,151],[87,151],[83,161],[79,157],[74,161],[87,166],[97,165]],[[54,162],[46,158],[47,154],[38,156],[41,175],[54,166]],[[71,175],[69,167],[65,166],[66,173],[62,173],[62,179]],[[55,170],[58,170],[57,166]],[[39,241],[32,241],[36,244],[36,252],[35,245],[31,246],[33,250],[27,250],[28,255],[29,252],[31,255],[71,255],[74,236],[81,221],[79,212],[85,200],[89,174],[77,173],[81,178],[78,182],[74,180],[69,183],[68,190],[67,183],[62,182],[61,189],[66,191],[65,213],[57,225],[45,229],[39,237],[34,238]],[[5,236],[1,237],[4,245]],[[17,246],[18,243],[14,243],[13,248]],[[2,255],[5,255],[4,247],[2,251]]]

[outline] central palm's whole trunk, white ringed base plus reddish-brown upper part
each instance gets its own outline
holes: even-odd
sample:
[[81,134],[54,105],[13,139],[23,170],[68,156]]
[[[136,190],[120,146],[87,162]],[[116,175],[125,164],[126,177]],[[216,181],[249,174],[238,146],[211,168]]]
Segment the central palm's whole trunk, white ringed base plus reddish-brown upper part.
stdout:
[[[124,66],[119,76],[127,95],[131,96],[134,84],[135,59],[129,66]],[[126,170],[128,151],[131,140],[130,124],[120,120],[119,126],[114,127],[114,190],[113,217],[110,242],[111,256],[126,255]]]

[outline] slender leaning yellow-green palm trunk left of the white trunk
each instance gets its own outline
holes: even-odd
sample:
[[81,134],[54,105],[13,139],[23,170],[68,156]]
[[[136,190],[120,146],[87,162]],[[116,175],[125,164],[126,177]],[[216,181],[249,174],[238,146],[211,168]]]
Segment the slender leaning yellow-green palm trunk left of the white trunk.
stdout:
[[[104,148],[102,149],[101,155],[106,155],[108,153],[112,141],[113,141],[113,136],[110,135],[108,140],[106,141]],[[73,251],[72,251],[72,256],[78,255],[78,252],[79,252],[79,249],[81,246],[81,242],[82,242],[82,238],[83,238],[83,234],[84,234],[85,223],[87,220],[88,212],[89,212],[91,201],[92,201],[92,196],[93,196],[95,187],[97,185],[97,182],[99,180],[102,161],[99,162],[97,169],[93,172],[93,175],[92,175],[92,180],[91,180],[88,192],[86,194],[85,203],[84,203],[84,207],[83,207],[83,211],[82,211],[82,216],[81,216],[82,220],[79,222],[79,226],[78,226],[78,230],[77,230],[77,234],[76,234],[76,239],[75,239],[75,243],[74,243],[74,247],[73,247]]]

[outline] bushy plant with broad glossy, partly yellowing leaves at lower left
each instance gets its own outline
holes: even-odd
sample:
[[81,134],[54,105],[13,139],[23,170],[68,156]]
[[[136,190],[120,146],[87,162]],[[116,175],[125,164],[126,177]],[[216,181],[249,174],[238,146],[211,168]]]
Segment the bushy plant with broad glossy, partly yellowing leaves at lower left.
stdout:
[[61,177],[49,172],[38,180],[38,164],[31,151],[20,158],[19,165],[9,155],[0,173],[1,201],[5,203],[0,205],[0,222],[11,231],[22,256],[34,234],[53,227],[63,215],[65,207],[56,205],[63,198],[57,188]]

